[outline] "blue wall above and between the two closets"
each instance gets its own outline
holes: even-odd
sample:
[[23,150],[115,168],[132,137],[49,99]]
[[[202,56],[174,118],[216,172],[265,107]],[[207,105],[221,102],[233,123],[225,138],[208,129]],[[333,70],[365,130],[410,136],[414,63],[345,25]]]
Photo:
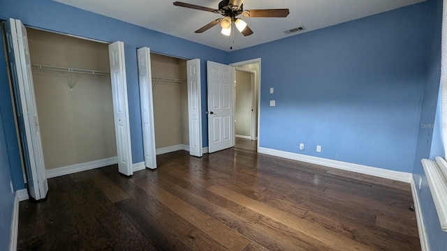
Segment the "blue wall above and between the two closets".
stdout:
[[[140,100],[138,94],[138,69],[136,49],[150,47],[159,52],[183,59],[200,59],[201,77],[206,79],[206,61],[228,63],[228,54],[222,50],[193,43],[164,33],[135,26],[126,22],[97,15],[85,10],[66,6],[50,0],[2,0],[0,19],[9,17],[22,20],[27,26],[94,38],[106,42],[124,42],[126,77],[129,96],[129,119],[133,163],[143,161]],[[207,128],[206,83],[202,83],[203,128]],[[7,125],[10,128],[12,124]],[[203,145],[207,146],[207,132],[203,133]]]

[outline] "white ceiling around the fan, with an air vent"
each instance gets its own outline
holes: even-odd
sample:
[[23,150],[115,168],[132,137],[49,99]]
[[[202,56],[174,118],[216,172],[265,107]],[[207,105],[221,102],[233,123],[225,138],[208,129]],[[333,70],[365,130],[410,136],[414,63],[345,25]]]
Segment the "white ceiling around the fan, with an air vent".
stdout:
[[[221,50],[239,50],[272,40],[293,36],[283,31],[305,26],[306,31],[356,20],[402,6],[426,0],[246,0],[244,10],[263,8],[289,8],[288,17],[242,17],[254,31],[244,37],[235,31],[233,39],[220,33],[220,26],[214,26],[204,33],[194,33],[205,24],[222,17],[203,10],[174,6],[167,0],[54,0],[83,10],[89,10],[117,20],[143,26],[179,38],[209,45]],[[182,0],[183,1],[183,0]],[[184,0],[199,6],[217,9],[219,0]]]

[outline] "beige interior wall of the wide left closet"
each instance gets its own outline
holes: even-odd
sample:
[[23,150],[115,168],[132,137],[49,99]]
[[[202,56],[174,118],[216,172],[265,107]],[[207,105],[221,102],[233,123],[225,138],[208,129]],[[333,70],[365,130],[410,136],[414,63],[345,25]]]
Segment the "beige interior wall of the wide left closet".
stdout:
[[[32,65],[110,72],[108,45],[28,29]],[[117,156],[110,75],[33,68],[46,169]]]

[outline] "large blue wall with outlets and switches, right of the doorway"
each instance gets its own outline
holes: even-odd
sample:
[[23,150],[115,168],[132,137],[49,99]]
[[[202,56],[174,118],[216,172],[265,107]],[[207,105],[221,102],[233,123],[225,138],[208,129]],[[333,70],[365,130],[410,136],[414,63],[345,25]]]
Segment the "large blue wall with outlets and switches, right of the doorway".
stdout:
[[230,62],[262,58],[260,146],[411,172],[429,10],[420,3],[230,52]]

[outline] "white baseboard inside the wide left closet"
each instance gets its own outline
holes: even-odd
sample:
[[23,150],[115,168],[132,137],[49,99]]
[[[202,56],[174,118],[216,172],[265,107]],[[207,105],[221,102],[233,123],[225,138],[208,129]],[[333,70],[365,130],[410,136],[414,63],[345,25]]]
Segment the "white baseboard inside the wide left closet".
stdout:
[[62,176],[66,174],[74,174],[76,172],[87,171],[90,169],[95,169],[98,167],[105,167],[108,165],[115,165],[118,163],[117,157],[106,158],[103,160],[94,160],[91,162],[85,162],[81,164],[71,165],[68,167],[59,167],[55,169],[49,169],[45,171],[45,176],[47,178],[54,178],[57,176]]

